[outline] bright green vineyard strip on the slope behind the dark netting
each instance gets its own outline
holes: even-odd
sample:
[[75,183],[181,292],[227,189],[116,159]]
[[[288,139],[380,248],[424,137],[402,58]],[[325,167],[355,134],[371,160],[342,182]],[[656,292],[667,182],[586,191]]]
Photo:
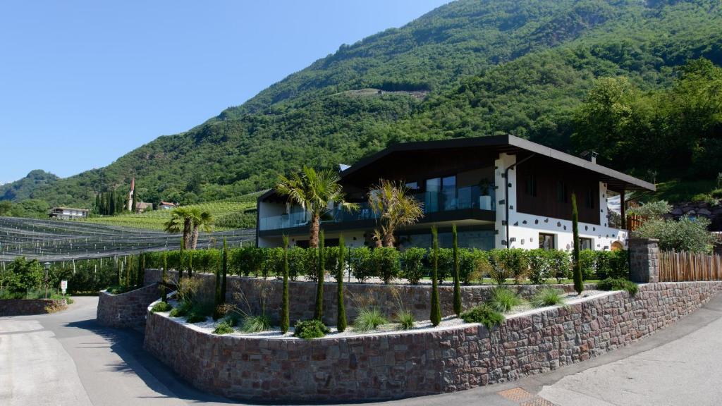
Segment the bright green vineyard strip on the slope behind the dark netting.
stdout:
[[[250,200],[250,199],[249,199]],[[215,219],[214,230],[236,230],[256,226],[256,201],[246,202],[207,202],[186,206],[209,212]],[[90,217],[84,223],[95,223],[124,228],[144,230],[163,230],[163,224],[170,219],[172,210],[152,210],[139,215],[125,214],[103,217]]]

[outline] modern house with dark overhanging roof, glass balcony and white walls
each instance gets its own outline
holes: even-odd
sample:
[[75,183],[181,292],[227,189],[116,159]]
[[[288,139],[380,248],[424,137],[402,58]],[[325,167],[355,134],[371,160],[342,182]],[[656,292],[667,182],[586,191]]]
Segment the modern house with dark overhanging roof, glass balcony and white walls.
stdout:
[[[329,206],[321,228],[328,245],[343,234],[350,246],[373,246],[375,215],[367,194],[379,179],[404,181],[424,204],[418,223],[398,230],[399,248],[451,245],[451,225],[460,246],[477,249],[572,248],[571,195],[577,198],[583,249],[626,246],[627,230],[609,224],[607,199],[627,191],[653,191],[652,183],[605,168],[596,155],[575,157],[511,135],[396,144],[341,172],[354,212]],[[622,219],[625,218],[622,207]],[[309,216],[270,190],[258,197],[257,245],[308,244]],[[623,223],[623,221],[622,221]]]

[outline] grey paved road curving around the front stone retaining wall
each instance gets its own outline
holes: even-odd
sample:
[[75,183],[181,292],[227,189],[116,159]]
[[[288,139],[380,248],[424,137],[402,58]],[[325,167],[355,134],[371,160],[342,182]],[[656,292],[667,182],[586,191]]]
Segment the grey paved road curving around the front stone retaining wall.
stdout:
[[[97,298],[0,317],[0,405],[223,405],[142,350],[142,332],[95,324]],[[383,405],[720,405],[722,295],[631,347],[585,363],[455,394]],[[379,404],[380,405],[380,404]]]

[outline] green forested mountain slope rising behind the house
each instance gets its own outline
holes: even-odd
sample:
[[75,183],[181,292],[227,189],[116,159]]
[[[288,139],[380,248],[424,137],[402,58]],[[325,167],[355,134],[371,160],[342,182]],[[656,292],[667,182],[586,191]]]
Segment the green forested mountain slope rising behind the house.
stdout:
[[90,207],[136,176],[144,200],[215,200],[269,187],[302,163],[499,133],[593,148],[638,176],[712,176],[722,171],[709,159],[722,153],[720,27],[718,0],[458,0],[342,45],[106,168],[22,194],[0,186],[0,199]]

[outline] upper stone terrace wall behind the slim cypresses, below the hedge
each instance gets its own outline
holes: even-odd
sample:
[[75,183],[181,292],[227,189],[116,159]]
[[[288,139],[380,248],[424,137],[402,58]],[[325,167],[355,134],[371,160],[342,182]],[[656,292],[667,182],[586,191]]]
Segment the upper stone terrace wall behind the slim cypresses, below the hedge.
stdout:
[[[147,269],[146,280],[160,280],[160,271]],[[175,271],[168,272],[170,280],[177,277]],[[201,281],[200,295],[207,301],[213,301],[215,276],[212,274],[194,274]],[[260,314],[265,311],[274,322],[279,321],[283,282],[276,279],[230,276],[227,280],[227,303],[235,303],[243,311]],[[593,289],[594,284],[586,285]],[[538,285],[506,285],[516,290],[521,297],[531,298]],[[544,285],[545,288],[559,288],[573,292],[573,285]],[[336,283],[326,282],[323,287],[323,321],[336,324]],[[491,285],[472,285],[461,287],[461,302],[464,308],[476,306],[491,295]],[[313,318],[316,306],[316,282],[289,282],[290,319],[292,322]],[[380,283],[344,283],[346,313],[349,320],[357,316],[358,309],[365,304],[382,308],[389,316],[399,308],[399,298],[404,307],[412,311],[416,319],[429,319],[431,285],[383,285]],[[398,295],[398,296],[397,296]],[[453,285],[440,285],[439,296],[442,316],[453,314]],[[397,298],[398,297],[398,298]],[[250,307],[250,308],[248,308]]]

